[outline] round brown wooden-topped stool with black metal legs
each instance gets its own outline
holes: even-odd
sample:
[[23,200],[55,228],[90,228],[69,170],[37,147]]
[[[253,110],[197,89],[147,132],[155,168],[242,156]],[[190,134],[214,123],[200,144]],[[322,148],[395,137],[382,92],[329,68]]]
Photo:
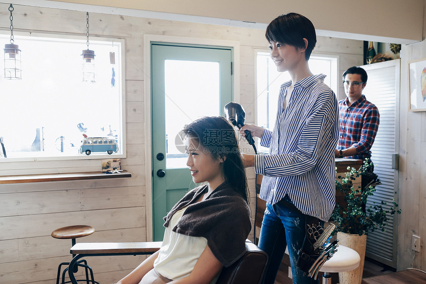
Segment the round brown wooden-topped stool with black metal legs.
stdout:
[[[92,233],[95,232],[95,229],[91,226],[85,226],[85,225],[77,225],[77,226],[68,226],[68,227],[61,227],[58,229],[55,229],[52,232],[52,236],[54,238],[60,238],[60,239],[71,239],[71,243],[72,245],[75,245],[75,239],[79,238],[79,237],[84,237],[87,235],[90,235]],[[74,257],[75,254],[72,254],[72,257]],[[84,263],[84,264],[83,264]],[[64,271],[62,272],[62,284],[65,283],[70,283],[71,281],[67,281],[65,282],[65,274],[68,270],[68,265],[69,262],[62,262],[61,264],[59,264],[58,268],[57,268],[57,277],[56,277],[56,284],[59,284],[59,279],[60,279],[60,268],[62,265],[66,265],[67,267],[64,269]],[[86,280],[81,280],[81,281],[86,281],[87,284],[89,283],[98,283],[93,279],[93,271],[92,268],[90,266],[87,265],[87,261],[82,259],[80,261],[77,262],[77,264],[74,267],[74,273],[77,272],[78,267],[84,267],[86,270]],[[89,280],[89,273],[90,272],[90,276],[91,276],[91,280]]]

